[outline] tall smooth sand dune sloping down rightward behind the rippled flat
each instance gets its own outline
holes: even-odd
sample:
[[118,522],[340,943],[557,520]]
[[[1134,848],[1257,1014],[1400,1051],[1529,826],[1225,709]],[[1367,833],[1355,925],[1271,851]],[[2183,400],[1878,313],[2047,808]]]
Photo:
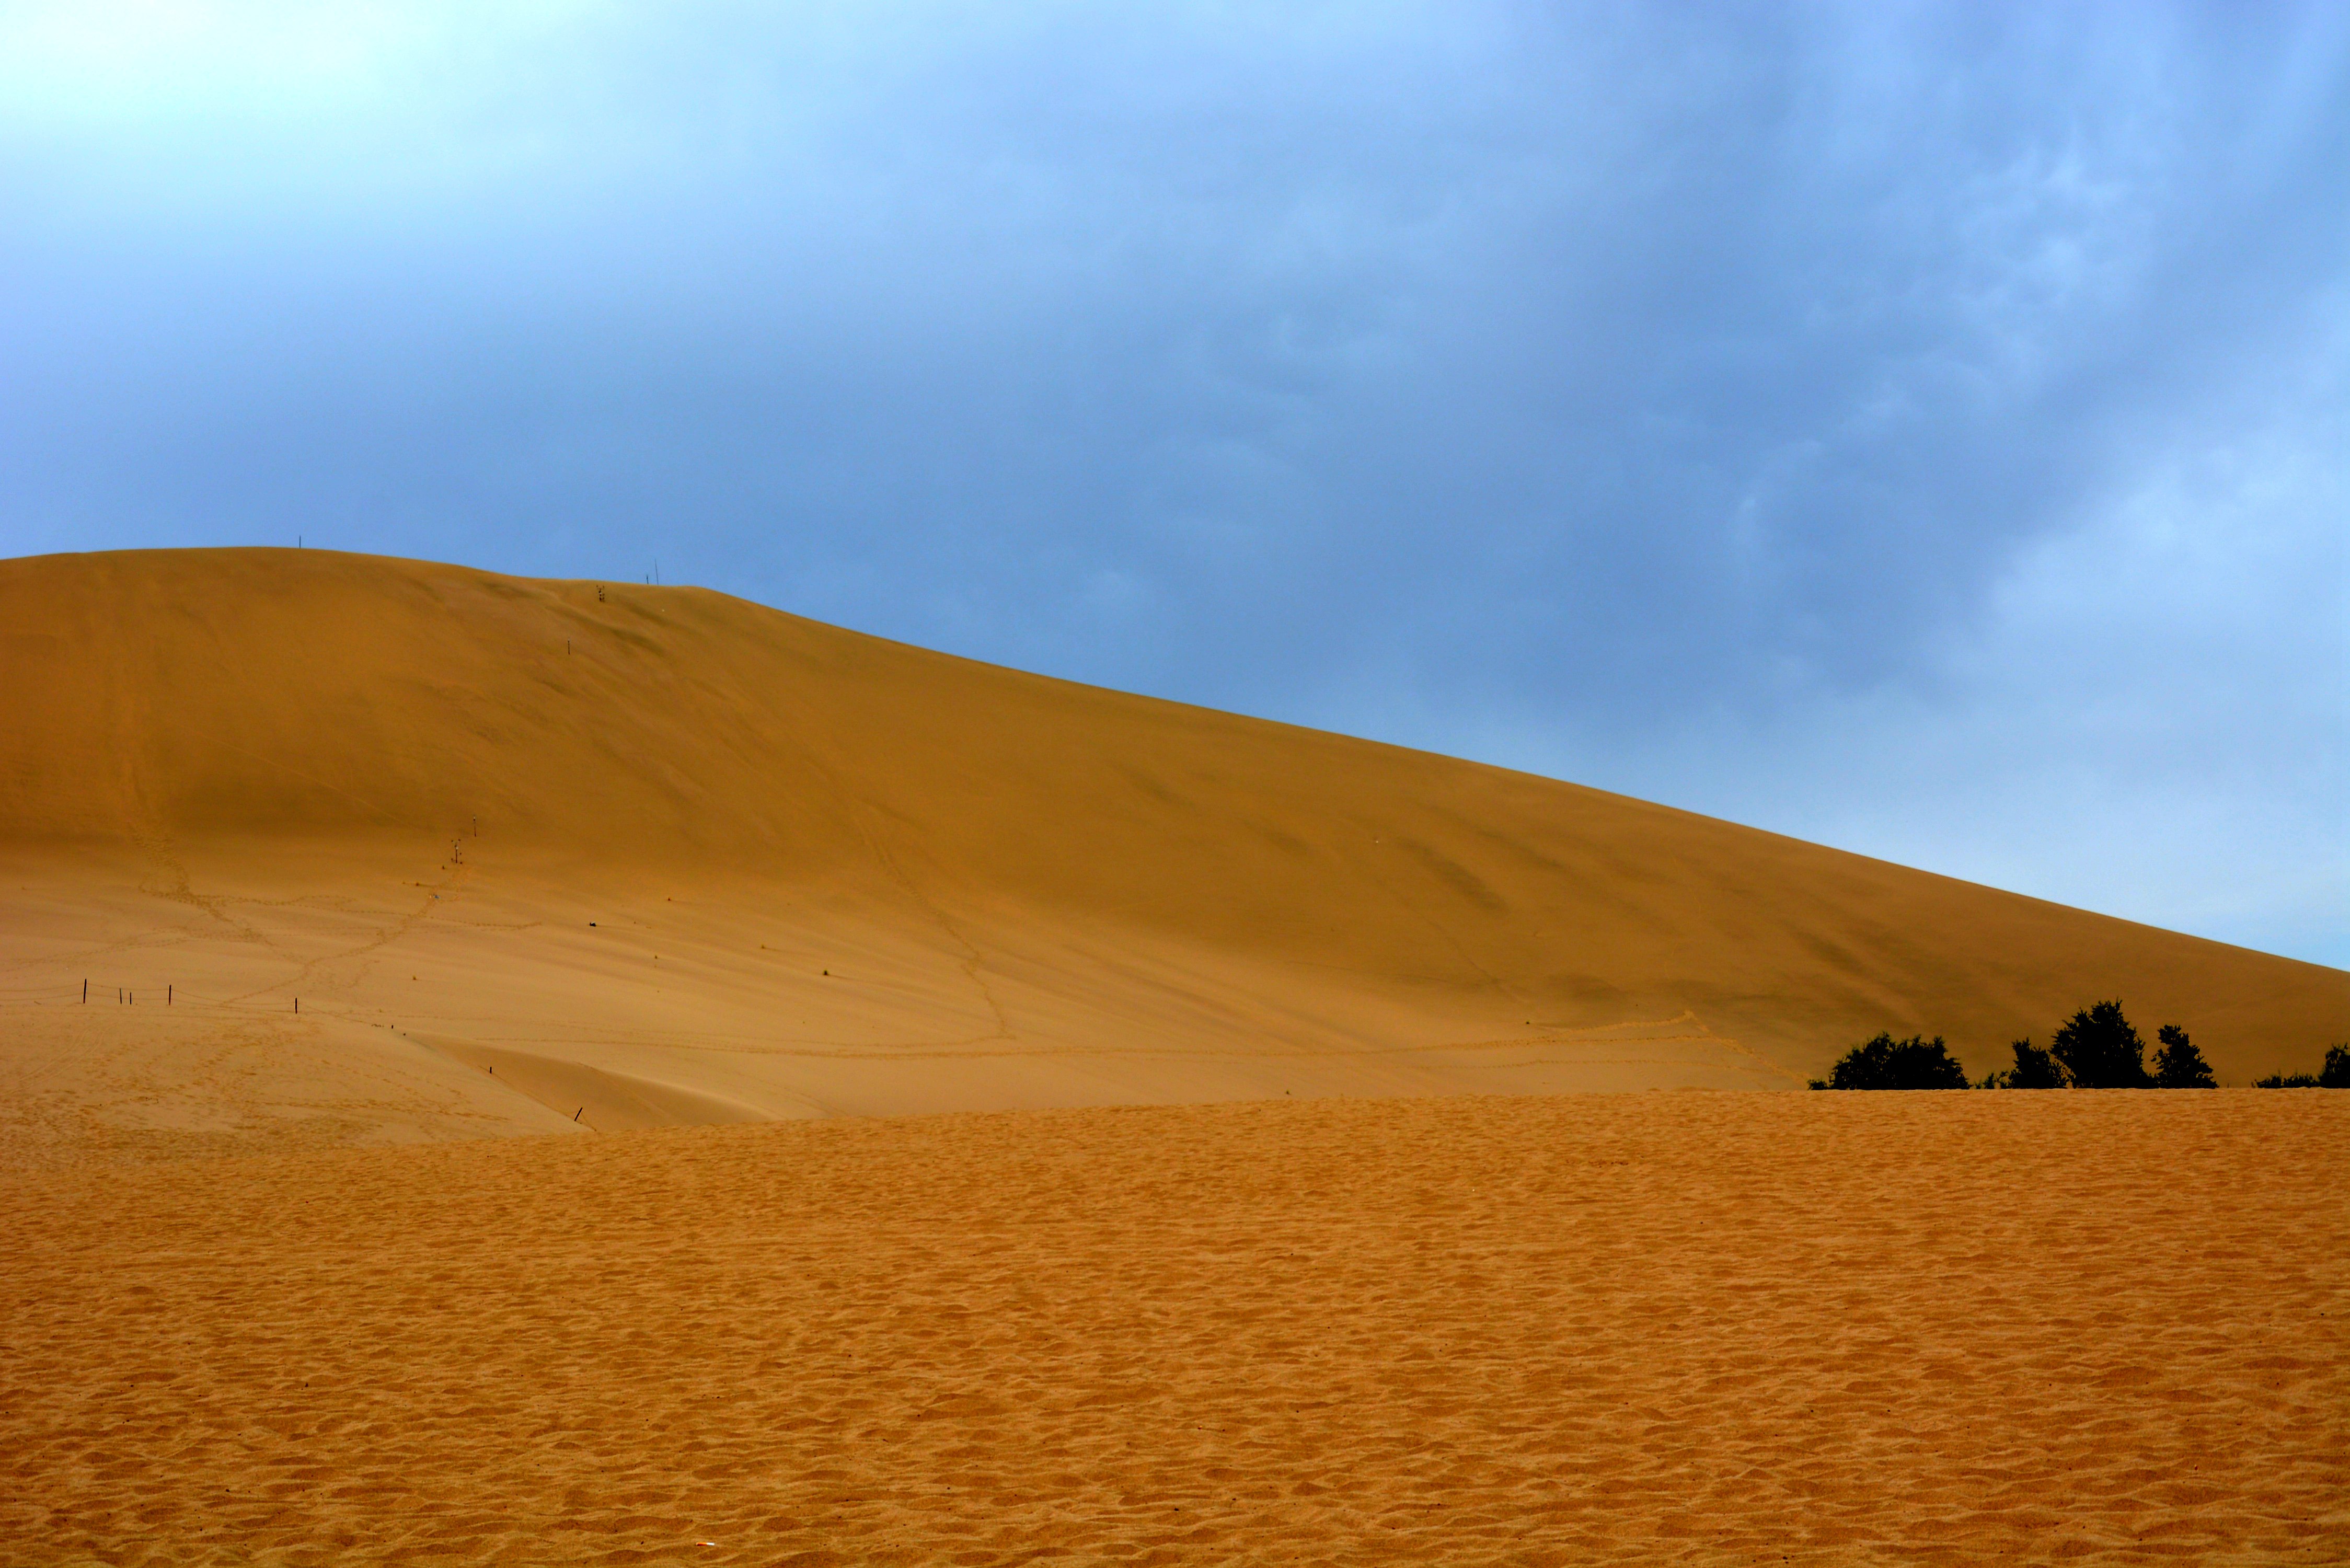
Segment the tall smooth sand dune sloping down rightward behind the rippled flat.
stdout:
[[19,1143],[1791,1086],[2099,997],[2235,1081],[2350,1037],[2341,971],[693,588],[14,559],[0,672]]

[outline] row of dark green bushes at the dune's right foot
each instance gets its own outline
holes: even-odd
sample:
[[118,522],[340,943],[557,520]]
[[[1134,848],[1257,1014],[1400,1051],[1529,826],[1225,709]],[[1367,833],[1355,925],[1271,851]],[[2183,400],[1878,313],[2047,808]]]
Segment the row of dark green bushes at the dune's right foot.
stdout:
[[[2176,1023],[2155,1030],[2155,1060],[2146,1039],[2122,1016],[2120,1001],[2099,1001],[2056,1025],[2047,1048],[2030,1037],[2009,1046],[2014,1065],[1969,1081],[1941,1034],[1894,1039],[1878,1034],[1847,1051],[1812,1088],[2216,1088],[2211,1065]],[[2315,1074],[2270,1074],[2258,1088],[2350,1088],[2350,1044],[2329,1046]]]

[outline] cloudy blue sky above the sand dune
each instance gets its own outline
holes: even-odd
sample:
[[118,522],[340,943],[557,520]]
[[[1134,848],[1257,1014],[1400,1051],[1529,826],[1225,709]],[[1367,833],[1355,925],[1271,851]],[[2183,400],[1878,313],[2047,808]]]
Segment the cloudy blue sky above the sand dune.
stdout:
[[2350,7],[0,7],[0,555],[296,538],[2350,966]]

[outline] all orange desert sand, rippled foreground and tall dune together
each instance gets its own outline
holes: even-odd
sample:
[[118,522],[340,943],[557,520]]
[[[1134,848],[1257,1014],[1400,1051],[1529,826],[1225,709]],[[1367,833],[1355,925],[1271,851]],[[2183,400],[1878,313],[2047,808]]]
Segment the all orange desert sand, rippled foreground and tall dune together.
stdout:
[[0,1563],[2350,1561],[2341,971],[691,588],[0,675]]

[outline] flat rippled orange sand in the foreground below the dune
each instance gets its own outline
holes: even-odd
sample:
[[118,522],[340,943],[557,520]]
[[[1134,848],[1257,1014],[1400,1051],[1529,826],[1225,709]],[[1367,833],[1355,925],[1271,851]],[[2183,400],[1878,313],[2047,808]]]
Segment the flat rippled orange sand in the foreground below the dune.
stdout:
[[2350,1559],[2350,1095],[0,1173],[7,1561]]

